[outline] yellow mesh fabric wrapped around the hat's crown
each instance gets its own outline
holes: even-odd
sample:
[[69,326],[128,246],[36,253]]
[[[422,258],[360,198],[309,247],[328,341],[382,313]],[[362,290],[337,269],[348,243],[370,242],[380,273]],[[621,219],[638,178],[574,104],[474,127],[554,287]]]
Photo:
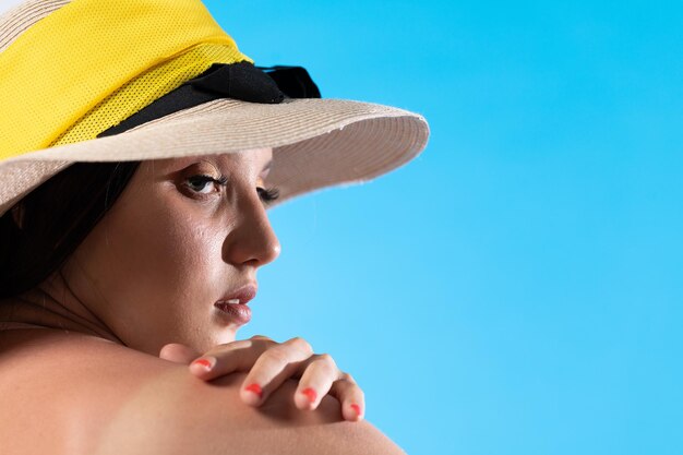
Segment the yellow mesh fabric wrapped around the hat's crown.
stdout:
[[0,53],[0,159],[95,139],[240,61],[253,63],[199,0],[72,0]]

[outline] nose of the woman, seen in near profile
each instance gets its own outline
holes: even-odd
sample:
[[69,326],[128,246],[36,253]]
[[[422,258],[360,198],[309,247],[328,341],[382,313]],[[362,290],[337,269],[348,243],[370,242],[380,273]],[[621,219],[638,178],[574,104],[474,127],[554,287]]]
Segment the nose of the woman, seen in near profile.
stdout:
[[236,224],[226,239],[226,261],[260,267],[279,256],[281,246],[259,194],[244,196],[238,205]]

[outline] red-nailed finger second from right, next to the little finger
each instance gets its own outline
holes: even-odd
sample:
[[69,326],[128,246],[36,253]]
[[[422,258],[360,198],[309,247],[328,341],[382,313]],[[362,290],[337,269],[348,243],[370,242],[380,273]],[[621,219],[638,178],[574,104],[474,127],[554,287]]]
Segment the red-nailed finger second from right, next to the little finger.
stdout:
[[307,363],[295,394],[295,404],[299,409],[315,409],[342,372],[328,354],[312,356]]

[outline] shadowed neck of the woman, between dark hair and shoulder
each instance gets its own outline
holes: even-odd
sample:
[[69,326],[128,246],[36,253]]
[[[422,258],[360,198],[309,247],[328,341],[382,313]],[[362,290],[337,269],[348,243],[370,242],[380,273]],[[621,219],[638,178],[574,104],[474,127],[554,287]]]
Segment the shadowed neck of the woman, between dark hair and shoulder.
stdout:
[[61,271],[35,288],[0,303],[0,321],[81,332],[125,345],[74,295]]

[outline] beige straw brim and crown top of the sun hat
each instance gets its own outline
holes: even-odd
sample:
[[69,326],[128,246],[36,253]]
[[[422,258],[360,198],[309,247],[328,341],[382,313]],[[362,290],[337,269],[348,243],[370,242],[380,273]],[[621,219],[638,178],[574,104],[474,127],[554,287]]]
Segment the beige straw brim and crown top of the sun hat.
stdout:
[[[0,51],[12,36],[64,3],[34,0],[0,17]],[[31,5],[37,9],[33,16]],[[279,190],[273,207],[303,193],[368,181],[396,169],[424,148],[428,136],[422,116],[376,104],[319,98],[280,104],[216,99],[120,134],[0,161],[0,215],[76,161],[160,159],[264,147],[273,147],[266,183]]]

